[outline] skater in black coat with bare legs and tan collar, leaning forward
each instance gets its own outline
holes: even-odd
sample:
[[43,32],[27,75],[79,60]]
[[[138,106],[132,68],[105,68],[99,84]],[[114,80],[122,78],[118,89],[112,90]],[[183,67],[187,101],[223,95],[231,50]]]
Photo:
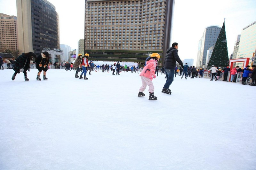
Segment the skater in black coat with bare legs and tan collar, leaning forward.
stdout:
[[43,78],[44,80],[47,80],[46,78],[46,72],[48,70],[48,64],[49,64],[49,53],[47,51],[42,52],[37,58],[36,58],[36,68],[38,70],[36,80],[41,80],[40,74],[42,71],[44,71]]

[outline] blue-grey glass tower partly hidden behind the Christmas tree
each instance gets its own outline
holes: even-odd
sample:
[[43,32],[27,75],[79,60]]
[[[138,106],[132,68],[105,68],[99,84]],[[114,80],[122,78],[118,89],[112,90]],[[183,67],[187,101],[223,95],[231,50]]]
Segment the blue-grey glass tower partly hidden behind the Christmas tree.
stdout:
[[203,36],[199,40],[197,49],[196,67],[204,68],[206,63],[207,50],[214,46],[220,34],[221,27],[210,26],[204,29]]

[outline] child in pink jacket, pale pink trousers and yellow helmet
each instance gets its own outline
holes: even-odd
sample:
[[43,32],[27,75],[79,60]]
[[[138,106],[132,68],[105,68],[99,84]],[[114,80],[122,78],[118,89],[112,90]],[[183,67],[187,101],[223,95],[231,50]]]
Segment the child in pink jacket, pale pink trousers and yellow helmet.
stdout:
[[160,55],[158,53],[153,53],[150,58],[147,59],[146,66],[140,73],[142,86],[139,89],[138,97],[145,96],[143,91],[146,89],[148,85],[149,91],[149,99],[148,100],[157,100],[157,97],[154,96],[154,85],[153,85],[153,78],[156,78],[155,70],[156,65],[159,61]]

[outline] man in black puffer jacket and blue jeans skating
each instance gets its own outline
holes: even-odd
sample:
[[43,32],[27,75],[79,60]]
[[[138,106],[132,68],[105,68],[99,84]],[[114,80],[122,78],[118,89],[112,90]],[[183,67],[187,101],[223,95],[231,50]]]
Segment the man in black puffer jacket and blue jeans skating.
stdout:
[[164,58],[164,71],[165,71],[165,75],[166,75],[166,82],[165,82],[163,90],[162,90],[163,93],[172,94],[169,87],[173,81],[176,61],[184,69],[183,63],[180,60],[180,57],[178,55],[178,46],[179,46],[178,43],[173,43],[172,47],[170,47],[166,51],[166,55]]

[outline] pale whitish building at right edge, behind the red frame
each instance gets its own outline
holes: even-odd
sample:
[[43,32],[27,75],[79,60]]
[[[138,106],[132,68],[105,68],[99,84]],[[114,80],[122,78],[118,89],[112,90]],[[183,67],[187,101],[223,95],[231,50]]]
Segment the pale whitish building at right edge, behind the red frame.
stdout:
[[253,53],[256,52],[256,21],[243,28],[241,32],[239,48],[236,58],[250,58],[249,65],[256,64],[252,62]]

